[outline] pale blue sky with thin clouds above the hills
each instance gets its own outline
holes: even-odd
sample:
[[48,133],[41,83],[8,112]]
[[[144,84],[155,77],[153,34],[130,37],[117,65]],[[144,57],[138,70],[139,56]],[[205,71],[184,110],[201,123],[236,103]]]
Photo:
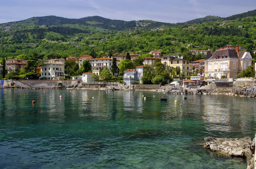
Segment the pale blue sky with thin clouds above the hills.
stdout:
[[256,0],[3,0],[0,23],[49,15],[178,23],[207,15],[229,17],[254,9]]

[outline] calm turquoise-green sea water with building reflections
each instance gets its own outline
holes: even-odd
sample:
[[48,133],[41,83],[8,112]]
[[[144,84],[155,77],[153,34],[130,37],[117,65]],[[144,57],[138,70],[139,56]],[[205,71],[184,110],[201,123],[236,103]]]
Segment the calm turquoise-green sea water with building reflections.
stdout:
[[0,168],[245,169],[243,159],[222,157],[201,144],[207,136],[253,138],[256,100],[183,97],[0,89]]

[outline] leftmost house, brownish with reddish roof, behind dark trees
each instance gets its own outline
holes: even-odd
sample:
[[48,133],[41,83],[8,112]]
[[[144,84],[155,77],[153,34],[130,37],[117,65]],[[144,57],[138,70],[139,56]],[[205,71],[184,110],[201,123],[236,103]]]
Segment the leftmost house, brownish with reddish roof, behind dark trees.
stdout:
[[6,60],[6,70],[8,73],[20,70],[26,66],[26,60],[24,59],[7,59]]

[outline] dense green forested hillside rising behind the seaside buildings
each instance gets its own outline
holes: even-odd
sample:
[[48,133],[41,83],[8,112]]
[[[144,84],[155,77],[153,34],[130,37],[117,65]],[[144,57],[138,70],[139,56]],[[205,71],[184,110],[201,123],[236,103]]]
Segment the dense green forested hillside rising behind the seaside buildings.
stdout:
[[253,54],[256,10],[227,18],[207,16],[176,24],[98,16],[80,19],[47,16],[0,25],[0,58],[7,59],[35,53],[47,59],[49,55],[100,57],[109,53],[146,54],[159,50],[164,55],[179,53],[193,61],[198,57],[189,49],[210,48],[213,52],[227,44],[242,46]]

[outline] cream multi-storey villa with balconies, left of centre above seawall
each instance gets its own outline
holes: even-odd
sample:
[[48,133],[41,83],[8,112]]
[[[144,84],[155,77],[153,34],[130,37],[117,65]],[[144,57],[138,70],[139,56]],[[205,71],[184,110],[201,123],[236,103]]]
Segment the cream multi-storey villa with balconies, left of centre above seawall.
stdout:
[[41,78],[46,77],[49,80],[63,79],[65,59],[44,60],[41,66]]

